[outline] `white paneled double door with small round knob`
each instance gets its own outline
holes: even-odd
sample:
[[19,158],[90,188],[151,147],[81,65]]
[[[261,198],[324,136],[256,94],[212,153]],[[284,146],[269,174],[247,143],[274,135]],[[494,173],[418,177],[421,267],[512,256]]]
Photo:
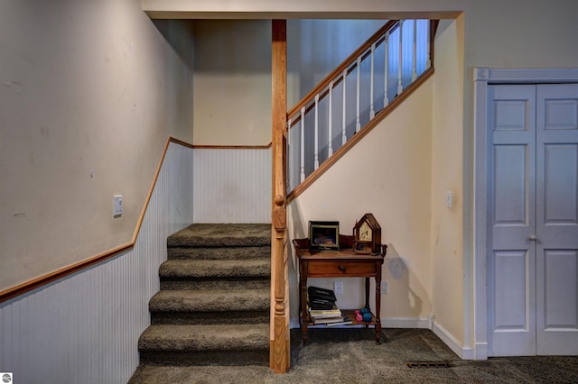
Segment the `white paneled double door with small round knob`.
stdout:
[[488,97],[489,356],[578,354],[578,85]]

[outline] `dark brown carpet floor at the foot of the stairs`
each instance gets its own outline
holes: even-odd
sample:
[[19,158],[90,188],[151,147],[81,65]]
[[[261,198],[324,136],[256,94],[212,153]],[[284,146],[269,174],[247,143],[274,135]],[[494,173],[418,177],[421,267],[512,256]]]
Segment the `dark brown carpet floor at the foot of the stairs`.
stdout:
[[[131,383],[578,383],[578,356],[462,361],[425,329],[316,328],[303,346],[291,330],[291,368],[143,367]],[[415,368],[411,368],[411,367]]]

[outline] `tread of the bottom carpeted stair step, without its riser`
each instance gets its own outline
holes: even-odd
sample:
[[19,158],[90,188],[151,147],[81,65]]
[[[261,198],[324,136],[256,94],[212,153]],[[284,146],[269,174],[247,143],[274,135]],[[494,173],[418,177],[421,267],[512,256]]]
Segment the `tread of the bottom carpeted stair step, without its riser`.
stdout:
[[151,325],[138,341],[139,351],[268,351],[269,325]]

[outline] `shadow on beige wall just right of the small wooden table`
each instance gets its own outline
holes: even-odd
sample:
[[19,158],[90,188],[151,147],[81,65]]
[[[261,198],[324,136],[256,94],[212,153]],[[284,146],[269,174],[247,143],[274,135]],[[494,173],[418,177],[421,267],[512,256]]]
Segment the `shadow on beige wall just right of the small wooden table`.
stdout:
[[[382,277],[383,280],[391,280],[390,290],[393,286],[397,292],[407,292],[406,300],[399,300],[396,306],[396,311],[407,315],[420,315],[422,313],[423,300],[415,294],[415,290],[410,288],[409,277],[410,270],[408,269],[409,261],[402,258],[396,250],[396,247],[389,243],[387,244],[387,256],[384,262],[387,270]],[[403,294],[398,294],[396,297],[403,297]]]

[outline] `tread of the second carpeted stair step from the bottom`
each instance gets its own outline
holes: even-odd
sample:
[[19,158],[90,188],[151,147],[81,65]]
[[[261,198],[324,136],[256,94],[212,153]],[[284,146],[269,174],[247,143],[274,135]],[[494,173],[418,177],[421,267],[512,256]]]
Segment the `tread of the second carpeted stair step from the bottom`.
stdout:
[[268,310],[269,289],[161,290],[149,302],[151,312],[238,312]]

